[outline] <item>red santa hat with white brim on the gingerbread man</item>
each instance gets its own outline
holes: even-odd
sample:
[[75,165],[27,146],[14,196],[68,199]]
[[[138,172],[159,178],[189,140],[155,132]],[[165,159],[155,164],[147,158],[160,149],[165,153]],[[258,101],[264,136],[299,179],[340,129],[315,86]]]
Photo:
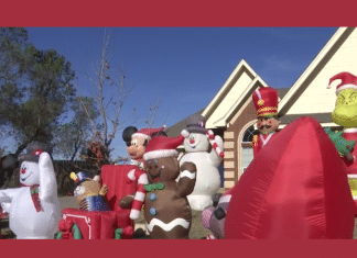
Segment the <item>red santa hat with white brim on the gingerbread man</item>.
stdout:
[[185,137],[183,135],[174,138],[162,135],[156,136],[149,142],[143,158],[144,160],[148,160],[155,158],[177,157],[178,152],[176,148],[183,143],[184,139]]

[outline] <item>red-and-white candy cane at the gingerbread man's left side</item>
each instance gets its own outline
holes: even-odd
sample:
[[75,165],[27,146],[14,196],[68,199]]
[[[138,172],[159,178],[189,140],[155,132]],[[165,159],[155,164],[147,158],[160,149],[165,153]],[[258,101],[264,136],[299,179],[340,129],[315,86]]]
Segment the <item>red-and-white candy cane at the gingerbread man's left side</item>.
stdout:
[[140,215],[141,207],[145,200],[147,191],[144,189],[144,186],[149,183],[149,179],[147,173],[139,169],[130,170],[128,172],[128,178],[133,182],[138,180],[138,189],[130,211],[130,218],[137,220]]

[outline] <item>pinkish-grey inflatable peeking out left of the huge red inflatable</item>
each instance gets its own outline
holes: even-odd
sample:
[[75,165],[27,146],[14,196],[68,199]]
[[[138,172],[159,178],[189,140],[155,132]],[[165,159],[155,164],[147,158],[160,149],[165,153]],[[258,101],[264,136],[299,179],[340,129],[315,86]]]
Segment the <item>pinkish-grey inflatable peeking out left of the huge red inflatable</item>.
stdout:
[[212,232],[207,239],[225,238],[225,222],[231,189],[219,198],[217,206],[208,206],[202,212],[202,224]]

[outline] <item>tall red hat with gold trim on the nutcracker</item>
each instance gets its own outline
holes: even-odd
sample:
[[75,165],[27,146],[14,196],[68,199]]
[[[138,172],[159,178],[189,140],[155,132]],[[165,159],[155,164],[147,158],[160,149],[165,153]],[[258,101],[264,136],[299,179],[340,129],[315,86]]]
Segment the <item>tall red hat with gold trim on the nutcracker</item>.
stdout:
[[271,87],[258,88],[252,93],[257,116],[273,116],[278,114],[278,91]]

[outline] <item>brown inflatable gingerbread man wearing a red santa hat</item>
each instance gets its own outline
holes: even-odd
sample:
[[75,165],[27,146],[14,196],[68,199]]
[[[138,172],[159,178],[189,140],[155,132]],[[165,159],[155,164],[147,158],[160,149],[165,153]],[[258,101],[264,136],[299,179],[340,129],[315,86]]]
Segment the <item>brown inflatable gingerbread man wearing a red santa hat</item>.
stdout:
[[175,148],[183,141],[182,135],[156,136],[149,142],[143,156],[150,181],[144,186],[144,217],[154,239],[188,238],[192,214],[186,197],[195,187],[196,166],[193,162],[180,166]]

